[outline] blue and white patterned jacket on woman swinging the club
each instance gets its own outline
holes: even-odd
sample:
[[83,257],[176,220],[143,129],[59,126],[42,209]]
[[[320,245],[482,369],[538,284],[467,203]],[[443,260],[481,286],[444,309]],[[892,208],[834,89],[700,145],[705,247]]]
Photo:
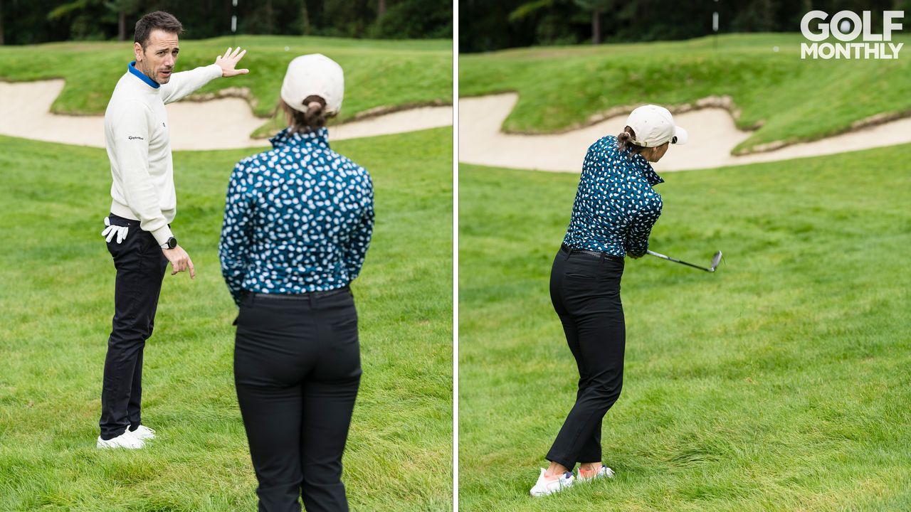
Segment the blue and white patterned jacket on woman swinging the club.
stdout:
[[620,257],[644,255],[661,214],[661,196],[652,186],[663,182],[645,157],[619,150],[616,137],[600,138],[585,156],[563,243]]

